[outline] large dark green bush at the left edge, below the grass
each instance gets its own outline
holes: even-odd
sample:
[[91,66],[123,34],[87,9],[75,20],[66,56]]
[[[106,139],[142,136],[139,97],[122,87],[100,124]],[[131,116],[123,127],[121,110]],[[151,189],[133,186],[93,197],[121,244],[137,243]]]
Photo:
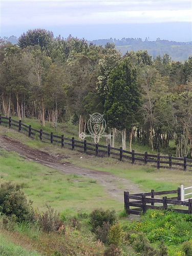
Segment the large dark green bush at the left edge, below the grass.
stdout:
[[33,218],[32,202],[27,201],[27,197],[19,185],[11,182],[0,181],[0,212],[11,217],[15,215],[18,221],[29,221]]

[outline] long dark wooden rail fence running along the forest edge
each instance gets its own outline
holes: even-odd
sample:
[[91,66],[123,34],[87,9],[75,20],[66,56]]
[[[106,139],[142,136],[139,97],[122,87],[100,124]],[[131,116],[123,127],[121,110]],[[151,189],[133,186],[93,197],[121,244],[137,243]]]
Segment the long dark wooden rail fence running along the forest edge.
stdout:
[[0,125],[5,124],[9,126],[9,128],[16,129],[18,132],[25,133],[28,137],[31,138],[39,138],[42,142],[50,142],[53,144],[60,144],[61,147],[67,146],[70,147],[71,150],[77,149],[87,154],[94,154],[96,156],[106,156],[106,157],[115,157],[121,160],[128,160],[132,164],[142,164],[142,165],[151,165],[156,168],[172,168],[172,169],[180,169],[180,170],[189,170],[192,171],[192,159],[189,158],[180,158],[173,156],[161,156],[159,153],[157,155],[148,154],[145,152],[136,153],[134,150],[126,151],[122,150],[122,147],[116,148],[110,145],[100,145],[91,142],[87,142],[87,140],[80,141],[75,140],[73,138],[64,137],[64,135],[55,135],[53,133],[49,134],[42,130],[37,130],[31,127],[31,125],[27,125],[22,123],[21,120],[16,121],[11,117],[4,117],[0,115]]

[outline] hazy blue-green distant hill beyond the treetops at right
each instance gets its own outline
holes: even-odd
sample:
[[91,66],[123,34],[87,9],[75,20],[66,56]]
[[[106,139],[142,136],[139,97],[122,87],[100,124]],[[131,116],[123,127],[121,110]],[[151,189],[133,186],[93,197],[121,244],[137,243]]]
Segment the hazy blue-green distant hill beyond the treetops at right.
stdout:
[[122,55],[127,51],[138,51],[147,50],[147,52],[154,58],[158,55],[168,53],[174,61],[184,61],[192,55],[192,42],[176,42],[168,40],[160,40],[157,38],[156,41],[142,41],[141,38],[122,38],[121,40],[110,39],[98,39],[93,40],[95,45],[106,45],[107,42],[115,44],[117,50],[120,50]]

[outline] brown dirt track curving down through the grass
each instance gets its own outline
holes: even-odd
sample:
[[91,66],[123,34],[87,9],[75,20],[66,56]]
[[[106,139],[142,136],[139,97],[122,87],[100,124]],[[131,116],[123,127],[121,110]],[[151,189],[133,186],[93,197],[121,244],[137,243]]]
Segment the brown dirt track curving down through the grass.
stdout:
[[[26,159],[31,159],[40,164],[60,170],[65,174],[73,173],[92,178],[104,186],[105,191],[111,196],[117,198],[117,200],[120,202],[123,202],[124,190],[130,191],[130,193],[142,193],[142,190],[137,185],[131,183],[130,180],[118,178],[117,176],[108,172],[100,172],[99,170],[78,167],[69,162],[60,162],[60,160],[63,158],[62,155],[57,155],[54,157],[47,152],[31,148],[6,135],[0,136],[0,147],[5,148],[7,151],[14,151]],[[119,186],[123,188],[119,188]]]

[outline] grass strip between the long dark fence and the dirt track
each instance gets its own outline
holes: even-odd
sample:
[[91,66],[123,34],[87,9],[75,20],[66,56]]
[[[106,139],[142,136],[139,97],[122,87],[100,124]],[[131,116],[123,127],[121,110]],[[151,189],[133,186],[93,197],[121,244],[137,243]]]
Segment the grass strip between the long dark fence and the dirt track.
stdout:
[[[3,130],[4,128],[1,127],[1,129]],[[0,130],[0,132],[2,130]],[[184,186],[192,185],[192,176],[190,172],[132,165],[127,162],[119,162],[117,159],[97,158],[95,156],[79,153],[78,151],[72,152],[67,148],[60,148],[56,145],[51,145],[49,143],[45,144],[38,140],[32,140],[24,134],[17,133],[11,129],[6,129],[6,134],[23,142],[24,144],[29,145],[30,147],[39,148],[53,155],[62,154],[63,161],[66,161],[67,159],[68,162],[78,166],[94,168],[103,172],[106,171],[113,173],[117,177],[130,179],[133,183],[139,184],[144,191],[150,191],[151,189],[176,189],[181,184]]]

